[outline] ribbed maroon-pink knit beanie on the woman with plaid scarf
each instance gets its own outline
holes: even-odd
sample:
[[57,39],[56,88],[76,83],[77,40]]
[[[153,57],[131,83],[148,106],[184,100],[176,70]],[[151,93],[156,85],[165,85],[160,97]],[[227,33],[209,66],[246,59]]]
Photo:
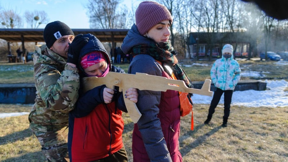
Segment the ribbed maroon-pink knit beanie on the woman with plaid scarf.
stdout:
[[141,35],[148,32],[154,25],[164,20],[173,22],[168,9],[153,1],[143,1],[139,4],[135,12],[136,26]]

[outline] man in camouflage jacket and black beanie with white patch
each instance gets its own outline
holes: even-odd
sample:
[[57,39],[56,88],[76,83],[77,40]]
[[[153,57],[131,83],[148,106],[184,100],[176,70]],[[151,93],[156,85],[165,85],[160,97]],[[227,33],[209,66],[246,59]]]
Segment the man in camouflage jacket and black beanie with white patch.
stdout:
[[[68,112],[74,108],[79,89],[76,62],[78,53],[88,42],[88,38],[82,36],[74,39],[73,31],[66,24],[55,21],[44,29],[46,45],[35,47],[36,99],[29,121],[48,161],[68,158]],[[69,47],[71,42],[77,44],[74,49]]]

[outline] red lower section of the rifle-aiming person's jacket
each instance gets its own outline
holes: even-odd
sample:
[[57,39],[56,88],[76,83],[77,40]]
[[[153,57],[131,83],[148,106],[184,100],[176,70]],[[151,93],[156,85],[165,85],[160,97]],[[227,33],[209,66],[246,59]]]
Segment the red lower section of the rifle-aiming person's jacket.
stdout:
[[98,105],[85,117],[74,118],[72,161],[93,161],[120,150],[124,129],[121,115],[112,102]]

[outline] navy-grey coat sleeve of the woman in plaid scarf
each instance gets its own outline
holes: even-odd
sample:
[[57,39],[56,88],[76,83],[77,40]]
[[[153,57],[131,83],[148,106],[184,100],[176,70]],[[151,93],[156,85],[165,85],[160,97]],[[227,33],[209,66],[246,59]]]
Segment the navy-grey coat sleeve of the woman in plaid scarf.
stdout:
[[[149,55],[137,55],[133,58],[128,73],[136,72],[162,76],[161,66]],[[137,125],[148,156],[151,161],[172,161],[157,117],[161,92],[142,90],[138,93],[137,107],[142,116]]]

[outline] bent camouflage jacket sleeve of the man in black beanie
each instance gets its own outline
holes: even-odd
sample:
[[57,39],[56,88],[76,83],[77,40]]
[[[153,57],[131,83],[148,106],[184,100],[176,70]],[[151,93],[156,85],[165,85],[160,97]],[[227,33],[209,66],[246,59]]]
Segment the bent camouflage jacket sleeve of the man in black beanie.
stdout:
[[62,73],[49,64],[42,64],[35,75],[35,86],[46,108],[68,113],[74,108],[78,99],[78,69],[65,65]]

